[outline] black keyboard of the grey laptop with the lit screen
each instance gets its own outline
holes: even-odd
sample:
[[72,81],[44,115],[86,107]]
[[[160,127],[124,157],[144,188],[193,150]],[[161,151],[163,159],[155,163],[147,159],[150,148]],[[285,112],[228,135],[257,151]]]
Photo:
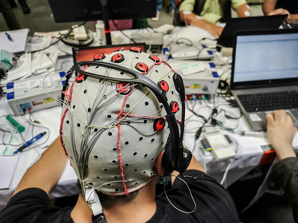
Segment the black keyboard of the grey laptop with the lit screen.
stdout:
[[298,90],[237,95],[246,112],[298,108]]

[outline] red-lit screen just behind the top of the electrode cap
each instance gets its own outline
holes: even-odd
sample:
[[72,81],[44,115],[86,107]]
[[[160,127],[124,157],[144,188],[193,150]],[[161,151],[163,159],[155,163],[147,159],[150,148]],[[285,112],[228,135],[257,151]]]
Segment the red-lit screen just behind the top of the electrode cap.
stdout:
[[131,47],[136,46],[141,48],[142,52],[146,52],[146,44],[145,43],[137,43],[137,44],[124,44],[124,45],[111,45],[111,46],[95,46],[95,47],[88,47],[83,49],[73,49],[73,57],[74,62],[81,62],[87,60],[93,60],[93,56],[104,53],[104,54],[111,54],[115,51],[124,48],[124,50],[130,50]]

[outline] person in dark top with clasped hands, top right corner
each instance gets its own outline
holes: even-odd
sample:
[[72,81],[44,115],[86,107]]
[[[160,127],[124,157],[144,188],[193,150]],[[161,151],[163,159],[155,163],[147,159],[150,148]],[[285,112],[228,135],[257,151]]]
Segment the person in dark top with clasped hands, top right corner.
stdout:
[[264,15],[288,15],[287,23],[298,23],[297,0],[264,0]]

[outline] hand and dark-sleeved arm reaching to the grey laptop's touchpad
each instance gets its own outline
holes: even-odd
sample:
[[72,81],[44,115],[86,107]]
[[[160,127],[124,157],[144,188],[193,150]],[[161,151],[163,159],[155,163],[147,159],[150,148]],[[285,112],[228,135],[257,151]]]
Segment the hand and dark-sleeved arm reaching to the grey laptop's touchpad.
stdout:
[[278,190],[282,187],[297,219],[298,158],[292,147],[297,128],[293,127],[291,117],[284,110],[267,114],[266,118],[269,142],[273,146],[279,160],[272,168],[268,188],[270,190]]

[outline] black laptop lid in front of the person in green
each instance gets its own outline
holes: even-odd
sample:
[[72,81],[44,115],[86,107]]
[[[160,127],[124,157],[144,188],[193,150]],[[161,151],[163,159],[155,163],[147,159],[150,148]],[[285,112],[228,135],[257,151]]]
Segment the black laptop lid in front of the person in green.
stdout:
[[233,46],[233,34],[239,30],[278,29],[287,15],[255,16],[233,18],[227,21],[217,45],[220,47]]

